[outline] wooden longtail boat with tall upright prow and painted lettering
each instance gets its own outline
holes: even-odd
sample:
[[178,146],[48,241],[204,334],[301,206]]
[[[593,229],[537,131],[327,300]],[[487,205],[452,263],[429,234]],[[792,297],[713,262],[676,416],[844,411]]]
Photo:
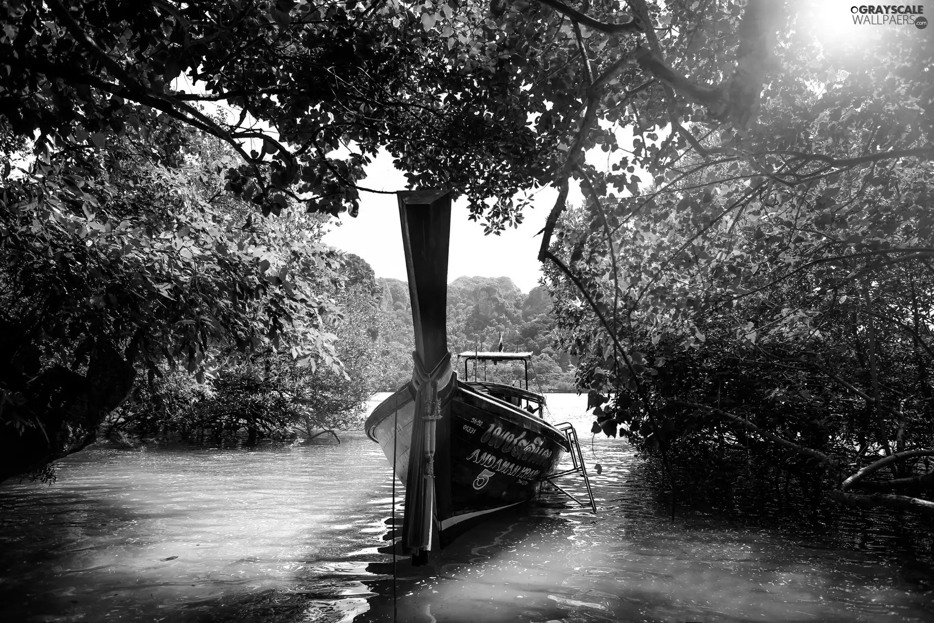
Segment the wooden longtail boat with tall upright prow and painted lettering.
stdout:
[[475,523],[530,501],[570,446],[541,418],[540,394],[454,373],[446,342],[450,194],[403,191],[398,200],[415,366],[365,430],[405,486],[401,553],[422,564]]

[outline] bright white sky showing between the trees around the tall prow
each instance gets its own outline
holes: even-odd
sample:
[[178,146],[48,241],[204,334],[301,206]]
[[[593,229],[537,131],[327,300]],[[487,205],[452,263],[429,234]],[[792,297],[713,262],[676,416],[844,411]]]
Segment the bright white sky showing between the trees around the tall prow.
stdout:
[[[367,168],[361,186],[379,191],[406,190],[402,171],[392,166],[389,154],[381,152]],[[483,224],[469,220],[467,202],[456,201],[451,210],[451,244],[447,262],[447,280],[459,276],[508,276],[523,292],[538,285],[542,276],[538,248],[545,219],[558,192],[541,189],[533,196],[533,209],[516,229],[500,235],[484,235]],[[580,192],[569,193],[569,204],[582,201]],[[377,277],[406,280],[399,207],[395,195],[361,191],[360,215],[354,219],[344,213],[335,220],[324,243],[359,255]],[[339,225],[336,223],[339,222]]]

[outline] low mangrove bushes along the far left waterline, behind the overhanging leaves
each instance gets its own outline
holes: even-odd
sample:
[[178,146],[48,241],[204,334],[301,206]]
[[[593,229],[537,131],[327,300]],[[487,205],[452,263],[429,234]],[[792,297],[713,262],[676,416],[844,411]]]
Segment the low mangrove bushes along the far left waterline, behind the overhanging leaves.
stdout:
[[[361,262],[352,255],[346,260]],[[345,268],[353,271],[354,266]],[[221,351],[226,361],[205,383],[166,370],[154,385],[137,387],[132,399],[109,416],[106,436],[131,445],[148,438],[181,438],[255,446],[262,438],[293,439],[300,431],[311,439],[321,432],[359,428],[363,405],[386,361],[375,341],[375,282],[372,275],[363,284],[355,277],[351,272],[329,292],[342,311],[334,322],[333,357],[340,366],[328,364],[328,356],[321,365],[305,364],[268,342],[242,355],[228,348]]]

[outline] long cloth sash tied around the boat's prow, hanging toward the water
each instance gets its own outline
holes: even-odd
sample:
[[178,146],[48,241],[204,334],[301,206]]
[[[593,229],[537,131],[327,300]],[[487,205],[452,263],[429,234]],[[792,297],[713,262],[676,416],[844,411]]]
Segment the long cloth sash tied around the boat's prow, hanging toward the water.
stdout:
[[451,354],[431,372],[413,352],[415,366],[412,388],[415,389],[415,413],[412,418],[412,444],[409,446],[408,474],[405,480],[405,515],[403,551],[413,558],[435,549],[438,543],[437,499],[434,491],[434,449],[437,420],[444,417],[454,397],[457,376],[451,367]]

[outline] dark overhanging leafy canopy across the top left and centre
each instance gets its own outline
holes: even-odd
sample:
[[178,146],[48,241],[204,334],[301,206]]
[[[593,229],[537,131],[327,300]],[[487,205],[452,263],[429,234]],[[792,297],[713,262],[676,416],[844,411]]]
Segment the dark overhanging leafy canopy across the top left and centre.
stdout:
[[[539,62],[474,47],[492,32],[484,5],[16,0],[3,10],[0,114],[17,135],[38,132],[39,152],[182,120],[239,153],[230,189],[263,214],[299,196],[312,211],[355,213],[355,182],[381,146],[414,182],[457,186],[477,211],[544,170],[529,158],[542,139],[526,111],[545,107],[520,88],[523,65]],[[183,73],[193,92],[173,88]],[[198,106],[216,101],[240,119]]]

